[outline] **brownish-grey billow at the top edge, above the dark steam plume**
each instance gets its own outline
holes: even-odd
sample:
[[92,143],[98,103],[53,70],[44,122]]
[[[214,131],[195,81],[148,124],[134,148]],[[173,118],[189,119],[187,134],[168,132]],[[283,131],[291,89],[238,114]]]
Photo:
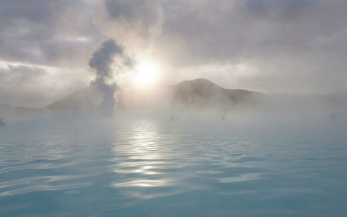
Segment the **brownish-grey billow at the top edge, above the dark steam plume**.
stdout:
[[162,32],[163,21],[158,0],[104,0],[96,15],[101,33],[137,53],[151,49]]

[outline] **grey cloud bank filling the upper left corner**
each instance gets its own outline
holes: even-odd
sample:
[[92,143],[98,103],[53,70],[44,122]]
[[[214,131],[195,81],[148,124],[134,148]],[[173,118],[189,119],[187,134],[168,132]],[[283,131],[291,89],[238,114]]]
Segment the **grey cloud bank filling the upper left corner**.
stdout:
[[[81,66],[98,37],[90,7],[85,1],[0,1],[0,59]],[[88,40],[78,40],[83,37]]]

